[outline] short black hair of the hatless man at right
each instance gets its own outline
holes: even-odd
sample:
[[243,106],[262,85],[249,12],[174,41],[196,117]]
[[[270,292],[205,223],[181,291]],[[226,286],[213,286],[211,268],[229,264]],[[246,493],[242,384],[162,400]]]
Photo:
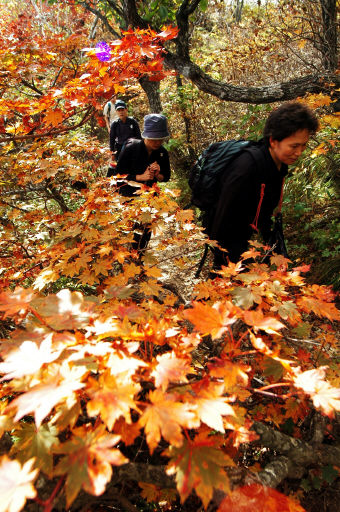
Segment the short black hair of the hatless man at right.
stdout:
[[290,101],[272,110],[264,126],[263,137],[269,145],[269,137],[281,141],[299,130],[308,130],[312,135],[318,128],[319,121],[312,109],[298,101]]

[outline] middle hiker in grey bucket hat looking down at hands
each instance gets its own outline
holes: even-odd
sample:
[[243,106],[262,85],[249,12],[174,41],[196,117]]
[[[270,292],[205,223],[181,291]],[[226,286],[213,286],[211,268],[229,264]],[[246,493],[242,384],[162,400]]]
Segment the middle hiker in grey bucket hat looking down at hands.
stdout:
[[[158,181],[169,181],[170,161],[163,142],[169,137],[166,117],[162,114],[148,114],[144,117],[142,140],[130,140],[123,148],[118,158],[117,166],[109,168],[107,176],[116,174],[127,175],[128,181],[152,186]],[[131,197],[138,188],[123,184],[119,193]],[[143,251],[151,237],[148,226],[138,222],[134,226],[135,242],[133,248]],[[142,234],[136,232],[142,231]]]

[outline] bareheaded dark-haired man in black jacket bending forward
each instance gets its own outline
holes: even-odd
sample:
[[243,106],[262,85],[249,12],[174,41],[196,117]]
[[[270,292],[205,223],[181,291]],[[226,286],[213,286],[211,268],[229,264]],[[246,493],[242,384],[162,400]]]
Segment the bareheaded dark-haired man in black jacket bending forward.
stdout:
[[299,158],[318,125],[314,112],[306,105],[284,103],[269,114],[257,147],[245,150],[228,165],[207,225],[209,237],[228,251],[214,250],[214,270],[228,261],[239,261],[254,229],[258,228],[264,243],[268,243],[288,166]]

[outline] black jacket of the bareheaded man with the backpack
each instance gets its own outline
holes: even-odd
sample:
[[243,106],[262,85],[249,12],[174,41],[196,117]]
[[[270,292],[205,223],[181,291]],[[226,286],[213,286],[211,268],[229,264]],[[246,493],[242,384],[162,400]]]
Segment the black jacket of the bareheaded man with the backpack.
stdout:
[[238,261],[254,233],[251,224],[256,217],[262,183],[265,189],[258,229],[264,241],[268,241],[271,217],[279,203],[287,169],[287,165],[282,164],[278,170],[263,143],[252,150],[245,150],[228,165],[220,179],[221,193],[210,216],[207,232],[211,239],[217,240],[221,247],[228,250],[231,261]]

